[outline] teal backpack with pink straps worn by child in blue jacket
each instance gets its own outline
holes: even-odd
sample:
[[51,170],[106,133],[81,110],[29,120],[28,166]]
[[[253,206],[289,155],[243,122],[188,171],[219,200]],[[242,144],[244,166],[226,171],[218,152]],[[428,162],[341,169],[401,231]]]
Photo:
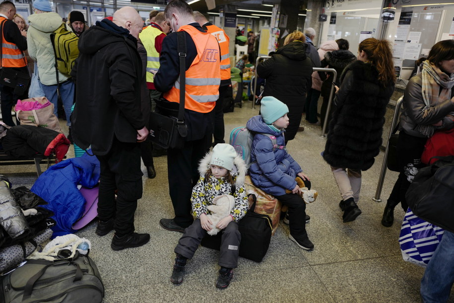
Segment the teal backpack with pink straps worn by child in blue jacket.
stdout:
[[248,165],[248,167],[249,164],[251,164],[252,141],[254,140],[254,135],[256,134],[267,136],[269,140],[271,140],[273,151],[275,149],[285,149],[284,146],[277,145],[276,137],[274,137],[273,135],[251,132],[246,127],[236,127],[230,133],[229,144],[233,146],[238,155],[243,158],[245,164]]

